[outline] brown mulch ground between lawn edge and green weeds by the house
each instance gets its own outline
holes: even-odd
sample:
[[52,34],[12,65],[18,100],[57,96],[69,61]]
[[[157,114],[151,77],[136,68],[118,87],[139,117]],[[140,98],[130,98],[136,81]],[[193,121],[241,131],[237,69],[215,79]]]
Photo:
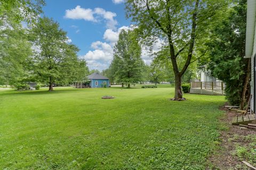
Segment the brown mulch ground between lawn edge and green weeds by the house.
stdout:
[[250,145],[251,141],[244,140],[244,137],[250,134],[256,134],[256,130],[231,125],[232,118],[238,115],[238,113],[228,111],[228,108],[224,106],[220,107],[220,110],[226,111],[225,117],[222,117],[220,121],[228,125],[229,130],[221,132],[220,149],[217,150],[218,153],[213,154],[209,158],[211,168],[209,167],[207,169],[250,169],[239,160],[234,154],[234,150],[236,145]]

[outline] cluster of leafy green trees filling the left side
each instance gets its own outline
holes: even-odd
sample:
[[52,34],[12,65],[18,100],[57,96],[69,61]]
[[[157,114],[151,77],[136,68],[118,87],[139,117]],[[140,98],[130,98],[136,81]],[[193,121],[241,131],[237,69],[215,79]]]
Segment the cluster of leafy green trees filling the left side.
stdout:
[[0,84],[34,81],[49,84],[52,91],[54,83],[85,81],[89,69],[78,59],[79,49],[68,43],[67,32],[52,19],[36,18],[44,2],[22,2],[1,1]]

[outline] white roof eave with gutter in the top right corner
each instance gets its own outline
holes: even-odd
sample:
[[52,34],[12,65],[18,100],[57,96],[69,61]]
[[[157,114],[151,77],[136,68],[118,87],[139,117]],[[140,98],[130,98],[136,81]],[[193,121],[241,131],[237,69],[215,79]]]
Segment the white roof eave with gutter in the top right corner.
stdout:
[[[256,1],[247,0],[245,58],[251,58],[255,35]],[[256,37],[255,37],[256,38]]]

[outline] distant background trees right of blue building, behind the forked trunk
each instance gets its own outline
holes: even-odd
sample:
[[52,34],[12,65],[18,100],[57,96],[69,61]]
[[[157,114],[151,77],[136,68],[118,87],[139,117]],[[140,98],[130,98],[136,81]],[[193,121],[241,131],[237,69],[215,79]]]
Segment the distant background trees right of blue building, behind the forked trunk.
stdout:
[[[174,82],[171,63],[163,60],[166,50],[160,50],[154,54],[154,60],[150,65],[146,65],[141,59],[141,46],[138,43],[138,30],[122,30],[119,39],[114,47],[114,57],[109,69],[103,70],[110,82],[127,84],[130,88],[131,83],[154,82],[155,84],[162,81]],[[183,82],[190,82],[196,78],[196,67],[190,67]]]

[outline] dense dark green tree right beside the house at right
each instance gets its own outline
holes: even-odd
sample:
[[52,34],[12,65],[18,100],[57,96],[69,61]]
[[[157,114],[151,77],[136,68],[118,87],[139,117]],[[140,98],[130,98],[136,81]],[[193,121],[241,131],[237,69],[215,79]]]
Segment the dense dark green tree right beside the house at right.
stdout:
[[[226,98],[243,109],[250,94],[250,58],[245,56],[246,0],[234,0],[225,17],[215,25],[210,41],[209,66],[226,84]],[[204,64],[203,64],[204,65]]]

